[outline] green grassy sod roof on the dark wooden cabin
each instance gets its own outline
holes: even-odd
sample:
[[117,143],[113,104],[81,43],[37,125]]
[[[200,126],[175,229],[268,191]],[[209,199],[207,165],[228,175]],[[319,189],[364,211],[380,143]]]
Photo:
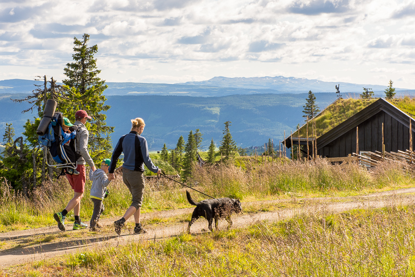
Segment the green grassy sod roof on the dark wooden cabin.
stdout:
[[[346,119],[352,117],[365,107],[368,107],[379,98],[373,99],[338,99],[332,105],[326,107],[315,118],[315,128],[317,138],[325,134],[332,128],[338,126]],[[415,98],[405,96],[403,98],[396,98],[392,100],[386,100],[404,113],[408,114],[412,118],[415,118]],[[300,138],[306,138],[307,125],[304,124],[300,128]],[[290,136],[289,136],[290,137]],[[292,133],[293,138],[298,138],[298,130]],[[312,137],[312,122],[309,121],[309,138]]]

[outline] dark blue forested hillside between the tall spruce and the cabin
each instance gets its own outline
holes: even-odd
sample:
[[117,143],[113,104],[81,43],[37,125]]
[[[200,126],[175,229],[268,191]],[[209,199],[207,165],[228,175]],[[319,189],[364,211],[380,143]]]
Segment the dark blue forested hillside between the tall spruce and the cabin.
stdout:
[[[187,96],[109,96],[108,126],[115,126],[113,142],[128,132],[134,117],[143,117],[144,136],[151,149],[174,148],[178,138],[187,137],[199,128],[207,149],[211,138],[219,144],[224,122],[231,121],[230,131],[239,147],[274,143],[304,123],[303,105],[307,94],[231,95],[225,97]],[[316,93],[319,107],[331,104],[335,93]]]

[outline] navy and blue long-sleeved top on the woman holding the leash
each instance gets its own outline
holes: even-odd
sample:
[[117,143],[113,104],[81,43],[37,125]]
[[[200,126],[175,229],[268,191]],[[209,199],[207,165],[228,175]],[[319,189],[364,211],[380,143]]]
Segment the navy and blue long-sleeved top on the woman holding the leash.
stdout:
[[147,141],[145,137],[140,136],[136,131],[131,131],[122,136],[112,153],[109,173],[114,173],[117,166],[117,160],[121,153],[124,153],[123,168],[144,172],[145,166],[152,172],[157,173],[159,170],[150,159],[148,154]]

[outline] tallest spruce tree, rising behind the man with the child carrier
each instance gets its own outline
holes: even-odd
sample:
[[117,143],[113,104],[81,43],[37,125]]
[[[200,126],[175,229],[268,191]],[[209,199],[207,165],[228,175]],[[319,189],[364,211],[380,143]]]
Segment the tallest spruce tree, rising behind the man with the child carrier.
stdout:
[[74,62],[66,64],[64,74],[68,79],[63,80],[67,97],[75,99],[71,105],[60,107],[60,111],[71,120],[75,121],[75,112],[85,110],[93,117],[85,126],[89,131],[88,149],[95,163],[100,163],[110,155],[112,149],[109,135],[114,127],[106,126],[106,115],[103,113],[110,106],[104,105],[106,98],[103,95],[107,88],[104,80],[98,77],[101,70],[97,69],[94,54],[98,52],[98,46],[88,47],[89,35],[83,35],[83,41],[74,38]]

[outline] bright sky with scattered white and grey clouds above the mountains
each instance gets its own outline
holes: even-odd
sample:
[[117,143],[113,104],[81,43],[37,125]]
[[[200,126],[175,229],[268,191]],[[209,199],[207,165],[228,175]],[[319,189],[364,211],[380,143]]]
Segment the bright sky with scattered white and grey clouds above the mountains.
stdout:
[[415,89],[414,23],[414,0],[0,0],[0,80],[64,79],[87,33],[107,82],[285,76]]

